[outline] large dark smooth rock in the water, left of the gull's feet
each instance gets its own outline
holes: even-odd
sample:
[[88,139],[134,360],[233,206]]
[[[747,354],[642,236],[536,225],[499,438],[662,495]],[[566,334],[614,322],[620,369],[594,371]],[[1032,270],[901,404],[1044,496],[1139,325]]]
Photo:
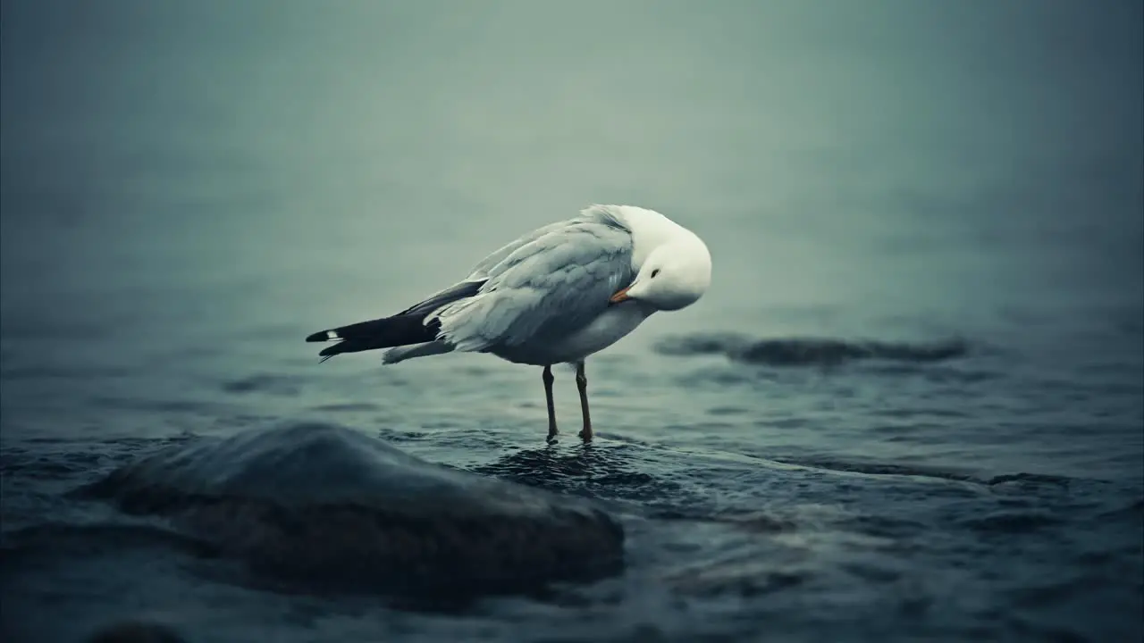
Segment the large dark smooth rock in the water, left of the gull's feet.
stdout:
[[622,529],[587,500],[431,465],[329,424],[174,445],[85,492],[323,588],[525,592],[622,566]]

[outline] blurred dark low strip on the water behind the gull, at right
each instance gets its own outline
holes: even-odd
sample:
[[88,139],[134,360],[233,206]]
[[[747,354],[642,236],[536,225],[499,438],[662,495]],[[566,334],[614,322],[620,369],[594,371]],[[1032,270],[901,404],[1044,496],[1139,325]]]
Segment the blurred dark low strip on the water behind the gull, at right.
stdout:
[[826,338],[753,340],[733,333],[668,338],[654,348],[662,355],[724,355],[736,362],[769,366],[829,366],[858,359],[930,363],[969,352],[968,343],[961,339],[916,343]]

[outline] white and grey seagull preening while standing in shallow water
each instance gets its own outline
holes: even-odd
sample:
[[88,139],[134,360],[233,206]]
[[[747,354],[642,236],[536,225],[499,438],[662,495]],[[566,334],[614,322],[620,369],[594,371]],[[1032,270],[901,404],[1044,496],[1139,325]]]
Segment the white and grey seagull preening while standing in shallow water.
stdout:
[[591,442],[585,360],[661,310],[699,301],[712,259],[694,232],[636,206],[594,205],[490,254],[468,277],[397,315],[328,328],[318,355],[387,349],[383,364],[446,352],[487,352],[542,366],[549,444],[556,442],[553,365],[575,367],[583,428]]

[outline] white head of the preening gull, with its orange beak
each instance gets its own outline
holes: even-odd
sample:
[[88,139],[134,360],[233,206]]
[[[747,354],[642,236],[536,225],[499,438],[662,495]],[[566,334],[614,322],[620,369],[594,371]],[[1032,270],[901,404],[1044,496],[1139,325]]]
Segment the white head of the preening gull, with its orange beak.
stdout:
[[685,228],[652,249],[631,285],[611,301],[636,300],[658,310],[680,310],[699,301],[712,283],[707,244]]

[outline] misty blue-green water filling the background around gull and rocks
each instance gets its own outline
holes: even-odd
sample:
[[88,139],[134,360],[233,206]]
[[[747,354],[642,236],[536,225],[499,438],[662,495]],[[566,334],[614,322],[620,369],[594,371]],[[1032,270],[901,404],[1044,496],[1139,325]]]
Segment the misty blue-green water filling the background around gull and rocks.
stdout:
[[[1144,634],[1138,7],[105,6],[3,6],[6,641]],[[302,342],[591,201],[715,280],[589,362],[590,446],[571,371],[549,447],[537,370]],[[406,610],[67,494],[310,420],[599,499],[626,570]]]

